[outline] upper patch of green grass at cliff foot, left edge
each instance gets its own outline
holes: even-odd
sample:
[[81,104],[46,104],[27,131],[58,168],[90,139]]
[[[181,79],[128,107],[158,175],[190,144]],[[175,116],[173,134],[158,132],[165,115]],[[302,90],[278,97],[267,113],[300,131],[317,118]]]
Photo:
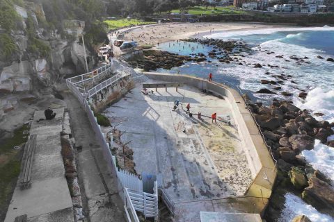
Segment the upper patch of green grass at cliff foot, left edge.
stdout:
[[0,155],[10,153],[14,146],[24,144],[28,140],[28,135],[23,135],[24,130],[29,130],[29,126],[23,125],[14,130],[13,137],[1,140]]

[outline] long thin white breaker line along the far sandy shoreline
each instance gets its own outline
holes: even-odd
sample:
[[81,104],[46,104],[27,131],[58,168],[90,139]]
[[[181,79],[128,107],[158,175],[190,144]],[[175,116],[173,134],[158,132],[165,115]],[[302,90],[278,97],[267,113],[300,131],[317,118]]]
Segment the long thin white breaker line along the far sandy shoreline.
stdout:
[[263,28],[249,31],[226,31],[222,33],[214,33],[205,35],[206,38],[223,39],[227,37],[235,37],[241,35],[255,35],[255,34],[272,34],[281,31],[334,31],[334,27],[308,27],[308,28]]

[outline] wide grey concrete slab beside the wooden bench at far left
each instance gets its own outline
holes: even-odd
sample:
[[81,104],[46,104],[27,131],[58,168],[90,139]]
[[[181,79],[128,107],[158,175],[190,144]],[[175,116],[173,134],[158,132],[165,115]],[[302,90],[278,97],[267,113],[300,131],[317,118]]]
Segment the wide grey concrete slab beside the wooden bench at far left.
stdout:
[[5,221],[27,214],[31,221],[73,221],[72,199],[65,179],[61,156],[61,130],[64,109],[55,109],[56,118],[45,119],[36,111],[31,135],[37,134],[31,174],[31,188],[21,189],[19,177]]

